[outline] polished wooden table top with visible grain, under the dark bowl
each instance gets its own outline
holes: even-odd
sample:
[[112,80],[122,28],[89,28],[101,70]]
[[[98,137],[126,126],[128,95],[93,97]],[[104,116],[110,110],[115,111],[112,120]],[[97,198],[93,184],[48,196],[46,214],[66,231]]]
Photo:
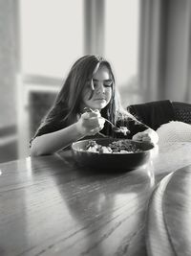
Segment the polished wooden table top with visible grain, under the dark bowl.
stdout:
[[152,255],[149,200],[161,178],[191,165],[190,152],[165,144],[116,174],[81,170],[70,151],[0,164],[0,255]]

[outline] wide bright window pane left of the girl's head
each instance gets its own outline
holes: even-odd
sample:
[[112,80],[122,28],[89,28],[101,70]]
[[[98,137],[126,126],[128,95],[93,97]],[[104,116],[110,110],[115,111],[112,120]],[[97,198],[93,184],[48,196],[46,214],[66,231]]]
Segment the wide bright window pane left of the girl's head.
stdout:
[[63,78],[83,54],[83,0],[20,1],[24,74]]

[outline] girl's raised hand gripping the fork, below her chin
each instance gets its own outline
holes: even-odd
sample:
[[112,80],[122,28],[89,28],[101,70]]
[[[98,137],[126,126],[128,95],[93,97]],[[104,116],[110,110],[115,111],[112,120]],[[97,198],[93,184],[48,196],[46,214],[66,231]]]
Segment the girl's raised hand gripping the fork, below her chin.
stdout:
[[82,136],[95,135],[104,127],[105,119],[98,110],[85,112],[77,121],[76,126]]

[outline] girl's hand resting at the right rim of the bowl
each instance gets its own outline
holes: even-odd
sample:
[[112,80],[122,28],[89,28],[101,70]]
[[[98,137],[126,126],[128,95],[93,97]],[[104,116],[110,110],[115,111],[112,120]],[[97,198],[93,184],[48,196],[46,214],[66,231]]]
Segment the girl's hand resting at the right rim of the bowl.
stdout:
[[159,136],[154,129],[148,128],[144,131],[141,131],[135,134],[132,139],[137,141],[146,141],[146,142],[151,142],[153,144],[157,144],[159,141]]

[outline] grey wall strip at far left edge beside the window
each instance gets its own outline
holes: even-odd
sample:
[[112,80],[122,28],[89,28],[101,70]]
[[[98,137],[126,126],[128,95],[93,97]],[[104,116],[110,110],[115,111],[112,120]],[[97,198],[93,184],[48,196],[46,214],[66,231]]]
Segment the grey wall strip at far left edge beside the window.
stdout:
[[13,0],[0,0],[0,130],[16,123],[14,12]]

